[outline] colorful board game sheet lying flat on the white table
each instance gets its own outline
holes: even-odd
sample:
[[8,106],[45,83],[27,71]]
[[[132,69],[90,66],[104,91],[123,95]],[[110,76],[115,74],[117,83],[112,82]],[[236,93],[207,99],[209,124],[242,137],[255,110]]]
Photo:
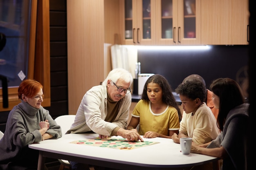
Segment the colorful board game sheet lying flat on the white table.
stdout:
[[77,141],[70,142],[71,144],[79,144],[79,145],[90,145],[90,146],[98,146],[104,148],[114,148],[114,149],[122,149],[122,150],[131,150],[135,148],[141,148],[144,146],[149,146],[153,144],[158,144],[159,142],[155,141],[136,141],[136,142],[129,142],[127,139],[115,139],[115,138],[108,138],[108,139],[82,139]]

